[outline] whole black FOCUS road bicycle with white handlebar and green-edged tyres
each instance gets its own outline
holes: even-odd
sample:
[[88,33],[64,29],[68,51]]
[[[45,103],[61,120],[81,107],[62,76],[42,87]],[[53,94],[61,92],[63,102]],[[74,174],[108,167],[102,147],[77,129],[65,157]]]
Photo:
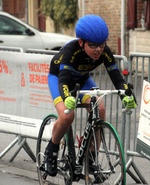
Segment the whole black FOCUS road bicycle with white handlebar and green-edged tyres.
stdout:
[[[100,119],[99,103],[106,95],[133,94],[126,90],[76,90],[76,108],[90,108],[80,147],[75,147],[72,126],[60,142],[58,174],[51,177],[44,169],[44,152],[51,138],[55,114],[48,115],[41,125],[37,140],[37,172],[40,185],[126,184],[124,152],[115,128]],[[79,95],[90,95],[91,102],[82,104]],[[65,110],[68,114],[70,110]],[[111,138],[111,140],[109,139]]]

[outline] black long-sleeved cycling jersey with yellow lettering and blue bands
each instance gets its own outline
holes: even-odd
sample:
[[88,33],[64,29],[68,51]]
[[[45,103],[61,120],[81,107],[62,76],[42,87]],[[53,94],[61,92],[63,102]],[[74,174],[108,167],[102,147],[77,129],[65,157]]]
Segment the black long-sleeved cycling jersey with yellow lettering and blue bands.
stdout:
[[98,60],[91,59],[80,47],[78,39],[71,41],[56,54],[50,63],[50,74],[59,78],[59,91],[62,99],[66,98],[64,87],[74,89],[76,83],[81,87],[89,78],[89,72],[97,66],[104,64],[116,89],[125,89],[125,81],[122,78],[115,63],[113,54],[106,45]]

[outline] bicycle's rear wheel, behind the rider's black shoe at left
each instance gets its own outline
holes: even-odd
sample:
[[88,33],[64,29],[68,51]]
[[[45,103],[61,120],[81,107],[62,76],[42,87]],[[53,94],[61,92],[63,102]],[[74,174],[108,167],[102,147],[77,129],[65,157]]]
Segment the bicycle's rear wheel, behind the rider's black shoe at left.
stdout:
[[54,114],[48,115],[42,122],[38,140],[37,140],[37,172],[40,185],[71,185],[72,184],[72,169],[68,162],[68,149],[66,139],[60,142],[59,155],[57,160],[58,174],[56,177],[51,177],[45,172],[44,167],[44,152],[51,138],[52,124],[56,121],[57,116]]

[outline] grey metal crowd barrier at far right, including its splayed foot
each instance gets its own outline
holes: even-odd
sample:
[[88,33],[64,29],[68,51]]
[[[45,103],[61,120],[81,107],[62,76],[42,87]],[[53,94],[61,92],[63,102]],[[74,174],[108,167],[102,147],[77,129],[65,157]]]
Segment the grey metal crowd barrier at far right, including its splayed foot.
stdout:
[[[134,86],[135,96],[137,98],[138,106],[135,110],[127,113],[127,124],[126,124],[126,169],[127,173],[135,180],[135,182],[148,184],[144,177],[141,175],[138,167],[134,163],[133,157],[142,157],[136,152],[136,138],[138,123],[140,117],[140,103],[142,96],[143,80],[150,82],[150,54],[148,53],[132,53],[129,57],[129,75],[128,82],[131,82]],[[133,167],[134,171],[140,178],[137,177],[130,171],[130,167]]]

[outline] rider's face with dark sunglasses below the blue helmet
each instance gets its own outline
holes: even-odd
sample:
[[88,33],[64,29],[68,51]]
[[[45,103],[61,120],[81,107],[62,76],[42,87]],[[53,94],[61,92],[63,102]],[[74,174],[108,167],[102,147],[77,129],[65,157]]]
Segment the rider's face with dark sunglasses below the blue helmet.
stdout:
[[[80,46],[83,46],[83,41],[79,41]],[[94,44],[90,42],[85,42],[84,44],[84,51],[86,54],[92,58],[93,60],[98,60],[100,55],[102,54],[104,48],[105,48],[106,43],[102,44]]]

